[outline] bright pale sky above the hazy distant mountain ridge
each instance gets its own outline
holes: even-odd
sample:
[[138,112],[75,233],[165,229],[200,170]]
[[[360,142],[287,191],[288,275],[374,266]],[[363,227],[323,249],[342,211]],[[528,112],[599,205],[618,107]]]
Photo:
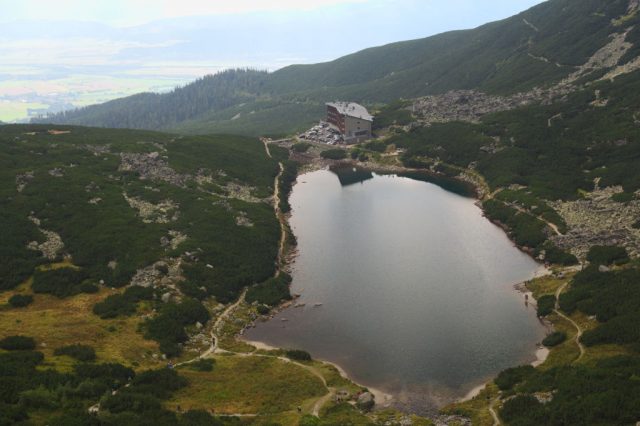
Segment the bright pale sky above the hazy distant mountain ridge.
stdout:
[[[79,20],[130,26],[158,19],[194,15],[242,14],[277,11],[280,14],[313,13],[331,10],[347,13],[345,6],[361,4],[379,16],[396,17],[402,10],[419,11],[404,15],[410,24],[422,22],[425,34],[432,28],[466,28],[504,18],[541,0],[0,0],[0,21]],[[405,19],[389,22],[398,30]]]

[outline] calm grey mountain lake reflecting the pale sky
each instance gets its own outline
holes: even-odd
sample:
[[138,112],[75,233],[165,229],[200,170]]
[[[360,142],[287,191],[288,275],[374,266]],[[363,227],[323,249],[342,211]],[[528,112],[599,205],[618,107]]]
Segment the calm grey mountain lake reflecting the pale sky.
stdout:
[[418,413],[533,361],[545,329],[513,286],[540,266],[473,199],[371,176],[347,186],[330,171],[298,177],[292,293],[306,306],[247,339],[305,349]]

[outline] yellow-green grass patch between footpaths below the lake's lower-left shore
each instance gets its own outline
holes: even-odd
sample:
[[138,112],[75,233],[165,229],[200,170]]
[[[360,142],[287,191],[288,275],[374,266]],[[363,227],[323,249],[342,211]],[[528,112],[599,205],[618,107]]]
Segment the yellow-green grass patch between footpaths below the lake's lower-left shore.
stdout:
[[307,370],[275,358],[217,357],[213,372],[184,371],[191,385],[168,402],[216,413],[279,413],[296,410],[327,390]]

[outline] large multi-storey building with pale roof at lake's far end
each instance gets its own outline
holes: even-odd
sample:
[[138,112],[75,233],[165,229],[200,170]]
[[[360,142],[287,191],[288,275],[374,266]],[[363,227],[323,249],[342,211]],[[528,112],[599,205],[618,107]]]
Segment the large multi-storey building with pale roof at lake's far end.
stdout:
[[327,122],[342,134],[347,144],[371,138],[373,116],[362,105],[353,102],[329,102]]

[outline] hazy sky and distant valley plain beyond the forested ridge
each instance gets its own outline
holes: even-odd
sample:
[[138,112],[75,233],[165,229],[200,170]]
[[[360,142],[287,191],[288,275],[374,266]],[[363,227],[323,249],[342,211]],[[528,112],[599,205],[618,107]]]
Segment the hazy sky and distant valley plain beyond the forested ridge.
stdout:
[[0,120],[168,91],[224,69],[274,71],[473,28],[540,0],[4,2]]

